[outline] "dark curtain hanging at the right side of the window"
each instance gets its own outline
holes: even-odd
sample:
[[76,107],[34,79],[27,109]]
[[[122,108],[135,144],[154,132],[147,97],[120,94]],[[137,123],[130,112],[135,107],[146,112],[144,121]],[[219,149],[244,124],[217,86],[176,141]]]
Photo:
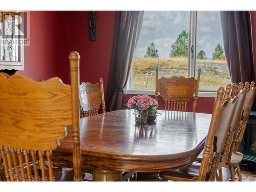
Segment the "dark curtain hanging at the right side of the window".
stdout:
[[255,80],[249,11],[221,11],[221,28],[232,82]]

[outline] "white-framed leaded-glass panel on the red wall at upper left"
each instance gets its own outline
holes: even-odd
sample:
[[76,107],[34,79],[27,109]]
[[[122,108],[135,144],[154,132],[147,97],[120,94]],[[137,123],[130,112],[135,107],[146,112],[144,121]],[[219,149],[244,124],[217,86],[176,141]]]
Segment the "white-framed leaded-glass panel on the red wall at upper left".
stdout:
[[0,70],[24,70],[23,13],[0,12]]

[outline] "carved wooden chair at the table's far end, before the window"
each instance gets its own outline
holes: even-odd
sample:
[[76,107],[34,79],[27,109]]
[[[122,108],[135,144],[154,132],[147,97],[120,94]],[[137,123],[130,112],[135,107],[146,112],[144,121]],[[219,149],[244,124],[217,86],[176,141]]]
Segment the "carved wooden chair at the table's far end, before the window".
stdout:
[[156,69],[156,100],[160,93],[165,101],[165,110],[186,111],[187,102],[194,97],[193,112],[196,112],[200,76],[201,69],[198,70],[197,79],[183,76],[158,79],[158,69]]

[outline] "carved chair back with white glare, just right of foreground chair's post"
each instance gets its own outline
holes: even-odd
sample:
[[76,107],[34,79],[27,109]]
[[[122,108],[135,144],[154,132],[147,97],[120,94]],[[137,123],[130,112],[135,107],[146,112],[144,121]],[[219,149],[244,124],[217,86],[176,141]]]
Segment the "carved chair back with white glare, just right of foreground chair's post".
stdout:
[[105,113],[102,78],[99,78],[99,83],[96,82],[95,84],[82,82],[79,85],[79,99],[81,117],[98,115],[100,104],[102,105],[102,112]]

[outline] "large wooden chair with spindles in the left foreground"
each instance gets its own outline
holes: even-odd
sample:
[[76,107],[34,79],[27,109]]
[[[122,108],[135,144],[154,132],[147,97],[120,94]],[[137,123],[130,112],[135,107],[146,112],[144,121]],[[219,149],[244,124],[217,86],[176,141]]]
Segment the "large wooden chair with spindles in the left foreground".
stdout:
[[[58,77],[37,82],[0,73],[0,152],[7,181],[54,181],[52,151],[73,129],[73,180],[81,180],[79,54],[70,56],[71,86]],[[61,113],[60,113],[61,112]],[[32,162],[32,163],[31,163]]]

